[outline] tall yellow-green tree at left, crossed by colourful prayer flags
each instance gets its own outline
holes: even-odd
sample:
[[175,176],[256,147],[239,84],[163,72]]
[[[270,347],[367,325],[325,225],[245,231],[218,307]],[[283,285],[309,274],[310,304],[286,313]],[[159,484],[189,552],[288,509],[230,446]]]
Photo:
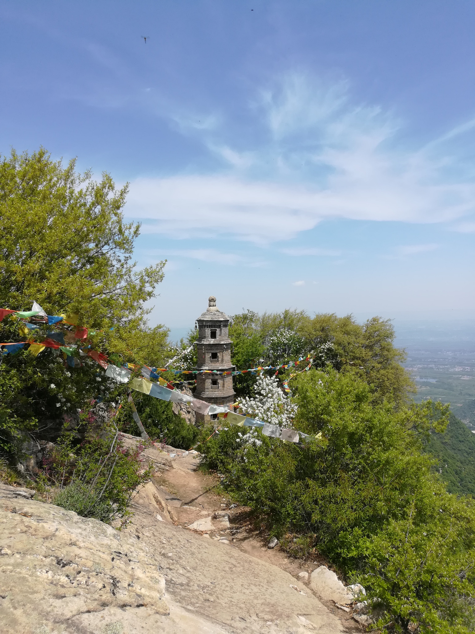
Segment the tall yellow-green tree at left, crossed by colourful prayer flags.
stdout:
[[[36,301],[50,315],[77,314],[78,326],[89,329],[82,342],[92,350],[115,361],[160,363],[167,331],[148,328],[145,302],[155,296],[165,262],[137,269],[132,252],[140,226],[124,222],[126,195],[127,186],[116,190],[108,174],[94,181],[89,172],[75,171],[74,160],[63,166],[43,149],[3,157],[0,307],[31,310]],[[4,318],[1,340],[18,341],[19,325],[16,318]],[[41,341],[49,330],[73,337],[75,329],[40,325],[30,336]],[[4,447],[26,429],[61,429],[61,417],[86,399],[105,395],[107,384],[96,362],[74,354],[81,368],[69,368],[51,349],[37,358],[27,351],[3,356]]]

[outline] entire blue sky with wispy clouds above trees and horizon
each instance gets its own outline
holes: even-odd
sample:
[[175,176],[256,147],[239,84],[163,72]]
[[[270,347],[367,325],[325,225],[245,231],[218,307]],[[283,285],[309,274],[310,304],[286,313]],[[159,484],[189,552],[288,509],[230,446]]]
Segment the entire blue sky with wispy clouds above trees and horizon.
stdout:
[[[130,183],[151,323],[473,317],[475,4],[0,2],[0,152]],[[141,36],[148,36],[146,43]]]

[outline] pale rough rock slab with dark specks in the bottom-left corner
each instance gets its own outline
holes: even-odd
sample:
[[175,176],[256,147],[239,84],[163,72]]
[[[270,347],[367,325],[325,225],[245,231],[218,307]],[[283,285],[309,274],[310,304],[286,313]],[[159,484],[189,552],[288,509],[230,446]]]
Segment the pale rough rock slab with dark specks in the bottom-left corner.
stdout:
[[74,618],[106,608],[168,614],[160,562],[137,538],[51,504],[12,502],[0,496],[0,631],[79,631]]

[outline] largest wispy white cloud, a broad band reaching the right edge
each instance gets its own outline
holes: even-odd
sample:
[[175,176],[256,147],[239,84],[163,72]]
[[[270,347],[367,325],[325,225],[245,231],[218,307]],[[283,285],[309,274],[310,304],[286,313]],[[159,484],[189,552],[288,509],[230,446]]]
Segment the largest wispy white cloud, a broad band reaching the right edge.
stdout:
[[475,207],[475,165],[465,161],[459,170],[450,145],[472,133],[472,122],[409,148],[402,124],[352,103],[345,82],[325,86],[296,74],[262,91],[251,112],[259,134],[247,141],[212,115],[203,129],[190,124],[222,167],[136,179],[127,216],[175,238],[227,234],[269,243],[329,218],[455,222]]

